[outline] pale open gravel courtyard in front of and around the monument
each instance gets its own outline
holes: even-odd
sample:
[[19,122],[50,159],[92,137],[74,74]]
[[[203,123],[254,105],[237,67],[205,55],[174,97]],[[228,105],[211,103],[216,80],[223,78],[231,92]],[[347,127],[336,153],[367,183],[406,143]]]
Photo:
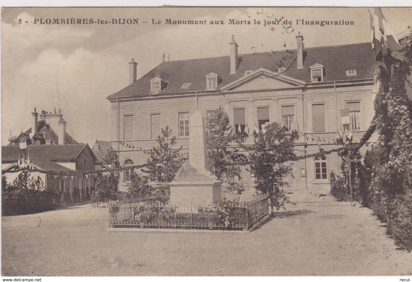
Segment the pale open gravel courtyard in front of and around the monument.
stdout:
[[2,275],[411,275],[367,208],[301,203],[251,233],[111,232],[89,205],[2,217]]

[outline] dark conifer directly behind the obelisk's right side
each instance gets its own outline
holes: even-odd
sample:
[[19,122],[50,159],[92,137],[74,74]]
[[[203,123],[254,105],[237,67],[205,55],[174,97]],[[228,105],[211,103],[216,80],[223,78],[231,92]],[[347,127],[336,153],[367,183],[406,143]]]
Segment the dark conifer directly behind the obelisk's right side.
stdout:
[[233,164],[233,156],[237,150],[229,149],[236,136],[232,132],[229,116],[221,106],[207,119],[206,128],[209,168],[218,180],[227,184],[228,192],[240,194],[244,189],[234,181],[235,178],[240,178],[239,166]]

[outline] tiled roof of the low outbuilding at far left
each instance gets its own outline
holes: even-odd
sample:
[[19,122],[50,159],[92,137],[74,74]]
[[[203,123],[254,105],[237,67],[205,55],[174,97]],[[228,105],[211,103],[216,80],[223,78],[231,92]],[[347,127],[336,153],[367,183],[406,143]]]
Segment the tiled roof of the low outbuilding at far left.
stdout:
[[[27,152],[30,159],[59,161],[75,160],[87,144],[68,145],[30,145]],[[19,159],[19,146],[2,146],[2,162],[11,162]]]

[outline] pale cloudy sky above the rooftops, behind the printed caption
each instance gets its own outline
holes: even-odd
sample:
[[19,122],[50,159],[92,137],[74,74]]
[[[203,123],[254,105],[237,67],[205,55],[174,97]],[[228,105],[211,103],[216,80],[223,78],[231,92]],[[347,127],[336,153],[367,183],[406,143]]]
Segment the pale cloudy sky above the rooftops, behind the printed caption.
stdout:
[[[382,8],[395,33],[412,25],[412,8]],[[228,25],[239,21],[293,21],[281,25]],[[138,25],[34,24],[35,18],[139,18]],[[153,25],[161,20],[224,21],[225,25]],[[19,19],[22,23],[19,24]],[[296,25],[296,19],[354,21],[355,25]],[[138,77],[166,59],[229,54],[231,35],[239,53],[294,49],[295,35],[305,47],[370,41],[368,8],[2,8],[1,135],[19,134],[32,125],[37,108],[61,109],[67,132],[78,142],[109,140],[108,95],[127,86],[128,62],[138,62]],[[28,21],[28,23],[25,23]],[[148,21],[149,23],[141,23]],[[274,29],[272,29],[274,28]],[[293,32],[292,32],[293,30]],[[286,46],[286,47],[285,47]]]

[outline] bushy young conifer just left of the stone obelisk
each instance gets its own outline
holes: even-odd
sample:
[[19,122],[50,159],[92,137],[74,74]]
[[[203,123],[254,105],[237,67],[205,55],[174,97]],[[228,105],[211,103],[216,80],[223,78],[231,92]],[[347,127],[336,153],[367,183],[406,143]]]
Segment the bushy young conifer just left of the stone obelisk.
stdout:
[[146,168],[142,171],[147,173],[152,180],[163,183],[164,189],[167,189],[167,183],[173,180],[185,160],[180,154],[183,146],[173,148],[176,145],[176,136],[171,137],[171,134],[172,130],[166,125],[162,129],[162,134],[157,137],[157,147],[144,151],[149,158]]

